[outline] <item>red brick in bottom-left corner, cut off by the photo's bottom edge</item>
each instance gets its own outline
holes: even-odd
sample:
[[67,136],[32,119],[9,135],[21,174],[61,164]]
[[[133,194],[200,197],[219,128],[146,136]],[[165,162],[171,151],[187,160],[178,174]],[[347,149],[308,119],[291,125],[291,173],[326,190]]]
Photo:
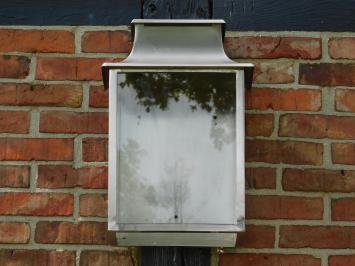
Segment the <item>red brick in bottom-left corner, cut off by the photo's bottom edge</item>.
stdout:
[[75,253],[41,249],[0,250],[3,266],[75,266]]

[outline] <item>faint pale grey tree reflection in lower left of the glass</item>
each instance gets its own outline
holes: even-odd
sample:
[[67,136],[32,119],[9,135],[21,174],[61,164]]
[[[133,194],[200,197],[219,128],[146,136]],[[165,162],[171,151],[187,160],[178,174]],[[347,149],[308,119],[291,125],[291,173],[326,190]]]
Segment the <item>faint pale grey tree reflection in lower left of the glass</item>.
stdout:
[[128,139],[120,150],[120,220],[131,223],[181,222],[182,206],[189,194],[187,182],[191,169],[183,160],[167,165],[156,189],[140,172],[140,160],[145,154],[132,139]]

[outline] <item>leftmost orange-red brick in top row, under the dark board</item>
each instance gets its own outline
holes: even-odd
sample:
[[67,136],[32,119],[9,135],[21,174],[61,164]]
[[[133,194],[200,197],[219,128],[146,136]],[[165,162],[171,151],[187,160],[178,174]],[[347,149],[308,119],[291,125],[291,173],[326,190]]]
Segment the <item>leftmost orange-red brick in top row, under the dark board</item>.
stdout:
[[74,34],[64,30],[0,30],[1,52],[74,53]]

